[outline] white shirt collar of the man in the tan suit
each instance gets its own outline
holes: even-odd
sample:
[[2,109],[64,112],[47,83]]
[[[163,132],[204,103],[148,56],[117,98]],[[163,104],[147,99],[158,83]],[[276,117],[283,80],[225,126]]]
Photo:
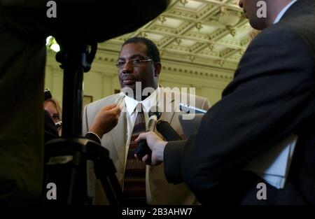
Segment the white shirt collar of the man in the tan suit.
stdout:
[[125,96],[127,112],[129,113],[129,115],[132,115],[132,113],[134,112],[134,108],[136,108],[139,103],[142,104],[144,112],[150,111],[152,106],[158,106],[158,99],[160,99],[160,94],[161,89],[160,87],[158,87],[149,97],[147,97],[143,101],[137,101],[132,97]]

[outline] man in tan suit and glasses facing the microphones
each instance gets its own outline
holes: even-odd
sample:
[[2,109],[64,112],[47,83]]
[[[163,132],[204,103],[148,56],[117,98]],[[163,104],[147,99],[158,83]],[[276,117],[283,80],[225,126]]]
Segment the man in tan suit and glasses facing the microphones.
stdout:
[[[152,52],[152,50],[155,50],[155,53]],[[181,94],[178,92],[167,90],[164,87],[158,87],[158,76],[161,69],[158,54],[159,52],[156,45],[146,38],[131,38],[127,40],[120,50],[120,57],[117,64],[120,84],[122,88],[127,87],[132,90],[136,90],[136,81],[141,81],[143,84],[142,87],[144,88],[153,87],[155,91],[150,94],[148,99],[158,100],[156,105],[159,106],[160,111],[162,111],[160,120],[169,122],[176,132],[180,136],[183,136],[183,129],[179,123],[179,114],[182,113],[179,110],[179,102],[185,102],[186,104],[207,110],[209,108],[209,101],[207,98],[197,97],[192,94],[182,99]],[[153,62],[151,63],[151,61]],[[141,71],[143,71],[143,73],[141,73]],[[153,95],[157,98],[152,98]],[[126,99],[128,98],[130,97],[125,97],[124,92],[113,94],[88,104],[85,106],[83,112],[83,134],[86,134],[90,131],[90,126],[92,125],[95,115],[102,107],[116,103],[118,99],[122,99],[120,104],[122,112],[118,119],[118,125],[116,125],[111,132],[102,136],[102,146],[110,151],[110,157],[116,166],[116,176],[120,185],[123,185],[126,147],[129,145],[130,138],[128,138],[128,136],[130,136],[130,130],[132,130],[132,128],[128,128],[128,126],[130,126],[128,123],[130,113],[128,113],[126,104]],[[146,101],[145,99],[146,97],[142,97],[141,100]],[[154,106],[154,104],[152,106]],[[144,112],[146,113],[148,109],[146,110],[145,108],[146,107],[144,107]],[[148,106],[148,108],[150,108],[150,106]],[[158,132],[156,133],[159,134]],[[99,190],[97,190],[97,192],[99,193]],[[97,196],[99,195],[100,194],[97,194]],[[146,167],[146,198],[148,204],[197,204],[195,195],[190,192],[185,183],[178,185],[167,183],[164,167],[162,165]],[[104,197],[100,199],[102,199],[102,201],[98,201],[97,204],[106,204],[103,200]]]

